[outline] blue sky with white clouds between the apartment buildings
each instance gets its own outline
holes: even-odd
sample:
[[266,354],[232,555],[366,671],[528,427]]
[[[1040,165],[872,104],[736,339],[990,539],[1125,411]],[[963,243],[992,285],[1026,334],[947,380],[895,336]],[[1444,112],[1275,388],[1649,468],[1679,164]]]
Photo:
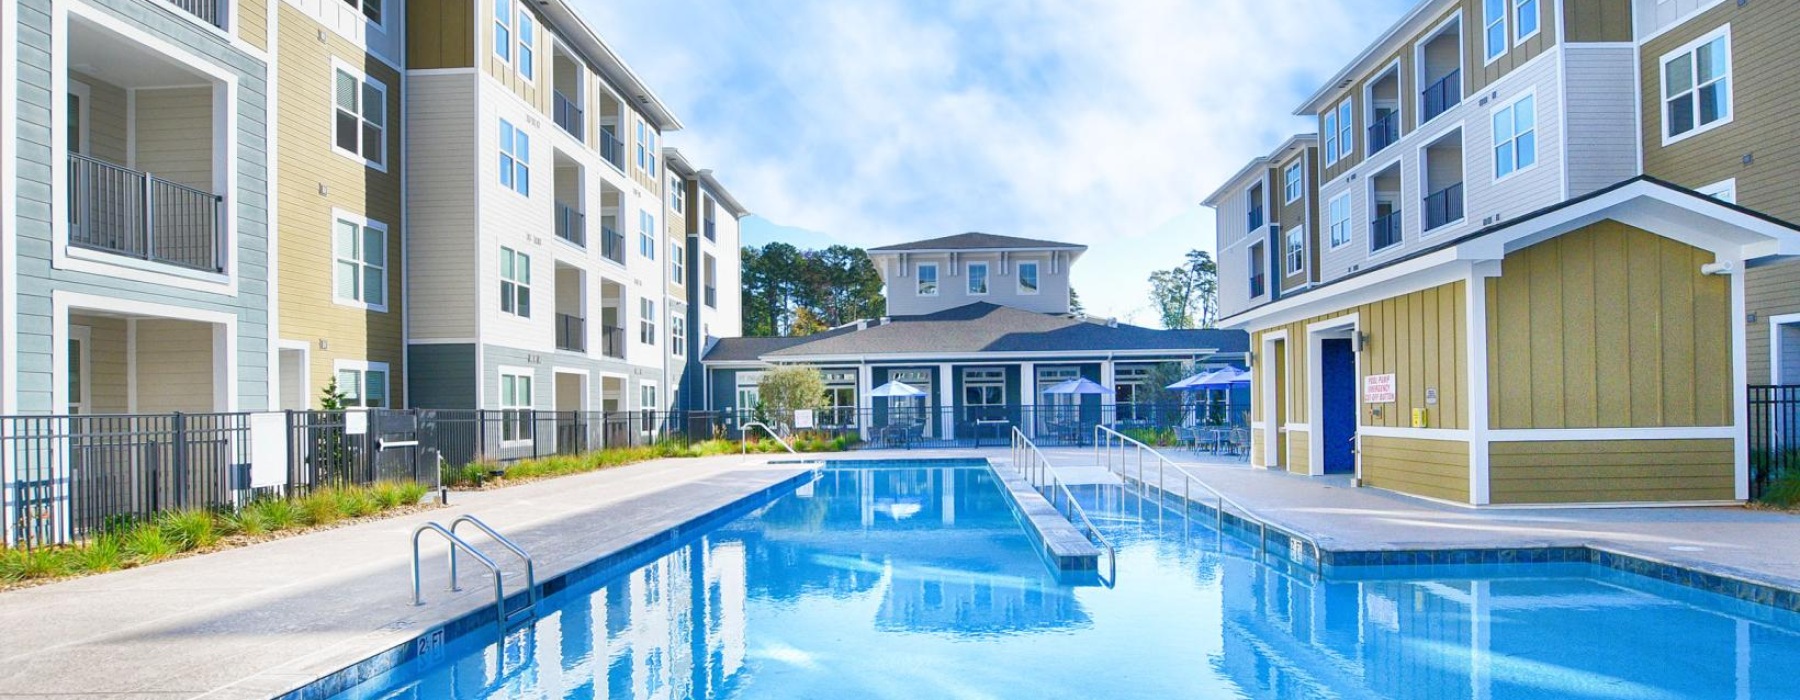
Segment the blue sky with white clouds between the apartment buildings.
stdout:
[[1087,245],[1091,315],[1213,250],[1201,200],[1415,0],[571,0],[754,216],[745,245]]

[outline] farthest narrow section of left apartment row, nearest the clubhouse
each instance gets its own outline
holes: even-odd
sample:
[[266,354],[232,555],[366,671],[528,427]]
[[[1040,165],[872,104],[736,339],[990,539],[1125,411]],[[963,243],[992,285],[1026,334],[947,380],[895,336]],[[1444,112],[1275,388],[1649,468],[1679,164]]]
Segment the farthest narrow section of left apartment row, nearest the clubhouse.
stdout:
[[679,331],[677,319],[670,319],[671,347],[680,347],[686,362],[680,363],[680,390],[671,407],[707,410],[700,385],[700,358],[718,338],[743,335],[743,297],[738,293],[743,284],[743,257],[738,223],[751,212],[731,196],[711,169],[695,169],[679,149],[662,149],[662,160],[670,169],[670,189],[680,193],[671,205],[686,211],[688,223],[684,263],[688,313]]

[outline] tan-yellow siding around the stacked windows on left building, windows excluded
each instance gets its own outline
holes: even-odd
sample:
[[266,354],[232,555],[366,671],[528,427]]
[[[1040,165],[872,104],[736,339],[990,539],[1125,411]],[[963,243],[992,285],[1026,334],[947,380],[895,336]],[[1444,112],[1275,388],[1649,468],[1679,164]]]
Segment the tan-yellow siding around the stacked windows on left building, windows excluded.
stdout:
[[[401,347],[401,221],[400,74],[369,58],[302,11],[281,4],[281,63],[277,72],[281,158],[277,207],[281,216],[281,335],[311,347],[310,381],[317,392],[333,376],[337,360],[389,363],[389,398],[405,405],[405,349]],[[385,173],[337,153],[333,144],[331,58],[387,85]],[[320,193],[324,187],[324,193]],[[333,211],[362,214],[387,225],[387,311],[367,311],[333,301]],[[326,346],[320,347],[320,340]],[[317,403],[317,394],[306,398]]]

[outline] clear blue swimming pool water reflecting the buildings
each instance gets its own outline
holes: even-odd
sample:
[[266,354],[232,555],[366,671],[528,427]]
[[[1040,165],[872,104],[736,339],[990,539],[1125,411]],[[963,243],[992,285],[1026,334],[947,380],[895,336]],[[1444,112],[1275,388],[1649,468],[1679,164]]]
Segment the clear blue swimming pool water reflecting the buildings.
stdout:
[[[1591,565],[1318,579],[1085,488],[1058,581],[986,468],[832,466],[342,698],[1800,698],[1800,615]],[[499,639],[499,641],[497,641]]]

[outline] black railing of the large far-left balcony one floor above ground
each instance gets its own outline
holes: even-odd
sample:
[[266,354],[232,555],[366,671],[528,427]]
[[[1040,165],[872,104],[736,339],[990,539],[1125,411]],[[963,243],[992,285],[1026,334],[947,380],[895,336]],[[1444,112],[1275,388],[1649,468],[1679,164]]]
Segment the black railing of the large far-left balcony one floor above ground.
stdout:
[[223,272],[225,198],[79,153],[68,155],[68,243]]

